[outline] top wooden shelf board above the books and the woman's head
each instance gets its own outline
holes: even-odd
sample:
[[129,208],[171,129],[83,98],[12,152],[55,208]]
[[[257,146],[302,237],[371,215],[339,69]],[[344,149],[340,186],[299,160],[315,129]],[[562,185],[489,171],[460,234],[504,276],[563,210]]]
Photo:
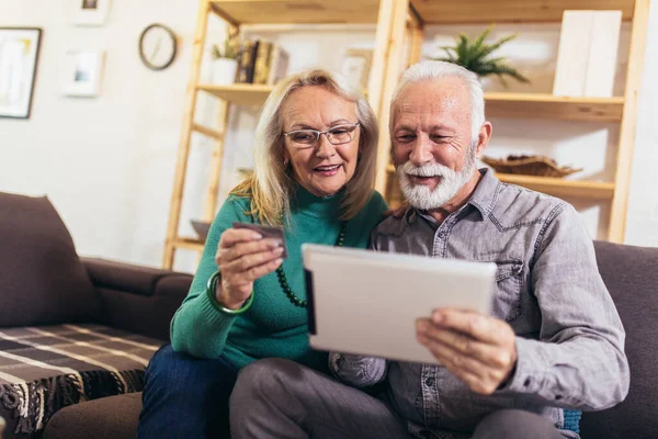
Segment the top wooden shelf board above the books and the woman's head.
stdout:
[[376,23],[379,0],[214,0],[213,12],[234,25]]

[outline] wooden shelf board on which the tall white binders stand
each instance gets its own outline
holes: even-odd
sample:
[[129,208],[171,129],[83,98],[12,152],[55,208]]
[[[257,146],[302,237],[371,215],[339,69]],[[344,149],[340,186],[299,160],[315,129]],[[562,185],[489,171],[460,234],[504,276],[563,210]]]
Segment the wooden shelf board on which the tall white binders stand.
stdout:
[[620,122],[624,98],[569,98],[541,93],[485,93],[487,116]]

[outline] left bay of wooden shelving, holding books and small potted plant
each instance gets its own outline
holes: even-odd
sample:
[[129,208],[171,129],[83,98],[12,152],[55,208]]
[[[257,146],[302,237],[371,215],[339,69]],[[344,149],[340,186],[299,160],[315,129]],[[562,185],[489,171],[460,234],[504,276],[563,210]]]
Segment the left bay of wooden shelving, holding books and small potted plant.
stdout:
[[[261,105],[272,91],[272,87],[270,86],[243,83],[216,86],[200,83],[201,61],[206,41],[208,16],[216,14],[226,21],[230,31],[235,33],[239,33],[240,26],[251,24],[373,24],[381,22],[382,11],[390,12],[390,7],[394,2],[395,0],[200,0],[193,46],[192,71],[188,85],[183,130],[181,132],[167,227],[167,240],[164,243],[162,261],[164,268],[172,268],[178,249],[203,250],[203,241],[179,235],[192,134],[200,133],[215,140],[209,164],[211,176],[206,189],[204,212],[201,215],[203,221],[209,222],[213,219],[217,207],[216,200],[219,189],[219,173],[224,156],[225,130],[228,122],[229,109],[231,105]],[[379,3],[384,4],[384,9],[379,9]],[[378,29],[377,37],[379,38],[378,41],[384,41],[383,38],[387,37],[386,32]],[[373,70],[378,69],[378,74],[375,74],[373,83],[382,83],[384,80],[383,67],[387,64],[388,57],[392,56],[392,53],[385,49],[384,44],[379,44],[379,46],[373,66]],[[209,93],[220,100],[222,105],[218,114],[219,130],[201,125],[194,121],[198,92]],[[379,90],[376,87],[368,89],[367,94],[378,98]]]

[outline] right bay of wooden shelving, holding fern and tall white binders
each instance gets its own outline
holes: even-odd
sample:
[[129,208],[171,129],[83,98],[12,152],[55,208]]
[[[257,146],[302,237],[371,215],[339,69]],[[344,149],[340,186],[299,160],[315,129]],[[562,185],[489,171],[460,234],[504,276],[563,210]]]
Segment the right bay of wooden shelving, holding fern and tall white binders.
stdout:
[[[611,204],[608,239],[624,239],[626,205],[631,181],[631,167],[635,143],[638,90],[644,64],[649,0],[470,0],[468,2],[401,0],[396,5],[402,15],[410,11],[411,25],[388,27],[390,40],[407,37],[410,41],[409,64],[420,59],[423,29],[431,24],[489,24],[496,23],[551,23],[561,22],[565,10],[621,10],[623,20],[631,22],[631,50],[623,97],[564,98],[551,94],[486,93],[488,117],[534,117],[576,122],[619,123],[620,140],[613,181],[580,181],[530,176],[498,175],[500,180],[545,192],[555,196],[581,198]],[[394,19],[394,21],[400,19]],[[389,59],[387,75],[398,78],[399,63]],[[387,200],[399,196],[399,188],[392,172],[388,116],[390,95],[395,81],[382,89],[379,109],[379,157],[377,190]]]

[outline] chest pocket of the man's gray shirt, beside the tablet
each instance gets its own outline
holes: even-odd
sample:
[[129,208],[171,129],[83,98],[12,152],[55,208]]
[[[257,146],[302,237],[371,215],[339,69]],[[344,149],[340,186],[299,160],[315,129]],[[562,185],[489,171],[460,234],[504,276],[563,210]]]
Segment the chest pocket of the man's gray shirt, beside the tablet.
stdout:
[[521,316],[523,261],[504,259],[494,262],[496,262],[496,285],[491,314],[504,322],[512,322]]

